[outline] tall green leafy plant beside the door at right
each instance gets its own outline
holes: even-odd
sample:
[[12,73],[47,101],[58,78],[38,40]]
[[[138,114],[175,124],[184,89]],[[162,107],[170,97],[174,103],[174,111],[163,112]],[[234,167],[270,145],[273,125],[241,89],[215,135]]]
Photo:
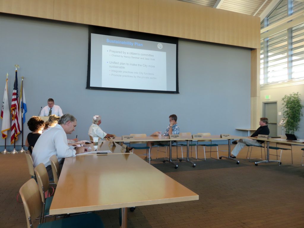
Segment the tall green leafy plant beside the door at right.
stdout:
[[294,134],[299,129],[299,123],[301,116],[303,116],[299,92],[285,95],[282,98],[283,105],[283,117],[288,118],[285,123],[285,132],[288,134]]

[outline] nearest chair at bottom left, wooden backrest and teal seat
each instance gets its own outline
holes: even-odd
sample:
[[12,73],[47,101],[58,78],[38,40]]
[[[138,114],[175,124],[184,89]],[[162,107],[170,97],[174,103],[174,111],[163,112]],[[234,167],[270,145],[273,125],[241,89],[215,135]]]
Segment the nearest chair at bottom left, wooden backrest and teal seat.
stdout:
[[[26,181],[24,185],[21,186],[19,193],[22,198],[26,223],[28,228],[33,227],[32,221],[35,220],[42,213],[42,201],[39,192],[38,185],[34,179]],[[94,213],[86,213],[80,215],[70,216],[69,218],[57,219],[55,221],[50,221],[47,223],[40,223],[38,228],[80,228],[80,227],[90,227],[90,228],[104,228],[102,220],[100,217]]]

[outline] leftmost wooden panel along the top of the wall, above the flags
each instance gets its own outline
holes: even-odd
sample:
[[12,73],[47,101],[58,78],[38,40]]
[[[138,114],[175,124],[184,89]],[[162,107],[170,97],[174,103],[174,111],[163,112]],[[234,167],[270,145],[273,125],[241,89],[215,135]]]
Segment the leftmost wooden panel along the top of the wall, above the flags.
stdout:
[[0,0],[0,12],[54,18],[54,0]]

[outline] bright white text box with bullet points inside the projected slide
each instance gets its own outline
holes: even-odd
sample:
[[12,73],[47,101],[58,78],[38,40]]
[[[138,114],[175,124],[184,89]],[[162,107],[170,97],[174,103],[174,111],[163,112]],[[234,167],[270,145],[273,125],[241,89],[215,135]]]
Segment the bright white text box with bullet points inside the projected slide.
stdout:
[[102,86],[167,90],[166,53],[102,45]]

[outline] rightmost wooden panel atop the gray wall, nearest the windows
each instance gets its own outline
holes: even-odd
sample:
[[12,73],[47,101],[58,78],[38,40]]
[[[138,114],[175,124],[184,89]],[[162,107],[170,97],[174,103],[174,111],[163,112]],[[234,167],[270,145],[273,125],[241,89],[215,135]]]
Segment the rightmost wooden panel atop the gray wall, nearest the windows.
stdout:
[[259,48],[260,18],[208,7],[206,41]]

